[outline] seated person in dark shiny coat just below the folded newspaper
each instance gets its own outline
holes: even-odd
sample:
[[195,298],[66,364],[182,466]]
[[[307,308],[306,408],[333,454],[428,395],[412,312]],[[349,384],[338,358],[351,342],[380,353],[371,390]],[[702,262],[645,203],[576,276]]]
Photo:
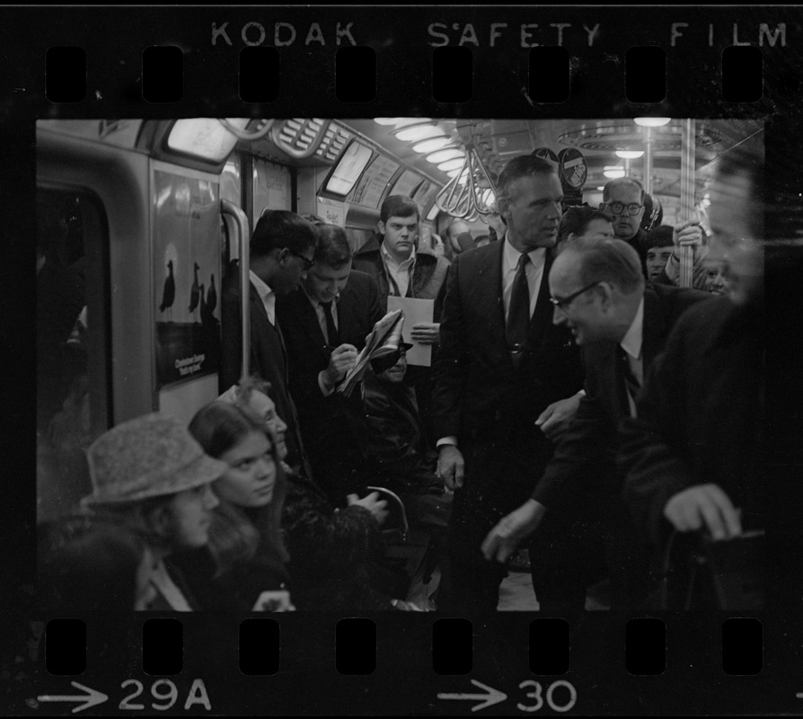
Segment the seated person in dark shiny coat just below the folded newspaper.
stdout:
[[404,384],[412,346],[402,345],[393,367],[378,374],[366,372],[363,395],[372,484],[399,494],[410,524],[446,528],[451,495],[444,496],[443,482],[435,474],[437,454],[427,447],[415,391]]

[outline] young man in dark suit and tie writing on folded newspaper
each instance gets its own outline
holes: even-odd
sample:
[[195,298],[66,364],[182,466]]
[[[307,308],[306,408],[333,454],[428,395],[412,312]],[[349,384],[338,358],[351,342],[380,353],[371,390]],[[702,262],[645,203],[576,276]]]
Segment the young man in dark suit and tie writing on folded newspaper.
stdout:
[[361,493],[365,431],[358,393],[347,399],[335,389],[384,315],[376,281],[351,270],[351,261],[345,230],[319,226],[312,268],[296,292],[277,300],[290,394],[313,475],[336,506],[347,494]]

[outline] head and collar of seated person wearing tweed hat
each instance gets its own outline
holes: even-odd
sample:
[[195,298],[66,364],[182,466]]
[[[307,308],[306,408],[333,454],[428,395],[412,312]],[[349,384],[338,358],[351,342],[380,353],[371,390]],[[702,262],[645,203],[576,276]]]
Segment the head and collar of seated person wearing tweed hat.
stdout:
[[88,510],[145,537],[154,556],[148,609],[192,611],[181,572],[165,559],[207,544],[211,512],[217,506],[210,484],[228,466],[204,454],[180,422],[146,414],[104,432],[87,450],[93,493]]

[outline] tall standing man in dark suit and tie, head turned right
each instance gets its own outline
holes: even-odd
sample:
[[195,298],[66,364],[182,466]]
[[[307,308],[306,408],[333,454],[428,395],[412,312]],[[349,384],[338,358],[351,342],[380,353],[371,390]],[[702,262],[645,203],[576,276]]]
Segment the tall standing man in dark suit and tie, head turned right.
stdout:
[[448,280],[433,400],[438,472],[454,489],[445,611],[496,608],[506,570],[485,561],[481,541],[532,493],[552,456],[539,415],[582,386],[578,349],[552,324],[546,282],[562,197],[552,164],[510,160],[497,194],[504,242],[458,255]]

